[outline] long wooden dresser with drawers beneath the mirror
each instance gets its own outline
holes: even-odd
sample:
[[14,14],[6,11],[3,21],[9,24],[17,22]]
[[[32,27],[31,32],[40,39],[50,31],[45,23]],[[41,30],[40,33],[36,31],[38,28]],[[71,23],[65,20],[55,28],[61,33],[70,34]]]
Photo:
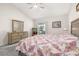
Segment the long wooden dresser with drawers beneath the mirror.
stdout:
[[8,44],[13,44],[21,39],[27,38],[28,32],[11,32],[8,33]]

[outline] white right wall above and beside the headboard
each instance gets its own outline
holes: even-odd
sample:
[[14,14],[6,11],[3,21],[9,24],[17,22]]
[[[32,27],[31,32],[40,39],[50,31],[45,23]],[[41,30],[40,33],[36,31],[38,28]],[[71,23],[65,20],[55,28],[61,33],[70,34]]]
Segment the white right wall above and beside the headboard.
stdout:
[[73,4],[72,9],[69,13],[69,31],[71,33],[71,22],[79,18],[79,12],[76,12],[76,3]]

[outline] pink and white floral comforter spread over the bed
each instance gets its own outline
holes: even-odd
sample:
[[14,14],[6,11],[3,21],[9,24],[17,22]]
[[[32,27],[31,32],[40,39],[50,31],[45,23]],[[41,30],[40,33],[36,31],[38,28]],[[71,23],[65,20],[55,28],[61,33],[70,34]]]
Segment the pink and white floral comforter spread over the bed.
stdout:
[[16,47],[28,56],[60,56],[76,47],[77,37],[72,35],[36,35],[21,40]]

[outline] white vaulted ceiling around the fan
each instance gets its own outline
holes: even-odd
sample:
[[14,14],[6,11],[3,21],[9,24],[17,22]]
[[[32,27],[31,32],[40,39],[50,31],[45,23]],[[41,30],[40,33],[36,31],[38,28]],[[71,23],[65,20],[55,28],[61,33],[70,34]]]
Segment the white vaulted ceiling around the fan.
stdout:
[[[38,19],[40,17],[58,16],[68,14],[73,4],[71,3],[44,3],[41,6],[45,8],[32,8],[34,4],[27,3],[15,3],[13,4],[19,8],[23,13],[28,15],[32,19]],[[38,3],[39,5],[39,3]]]

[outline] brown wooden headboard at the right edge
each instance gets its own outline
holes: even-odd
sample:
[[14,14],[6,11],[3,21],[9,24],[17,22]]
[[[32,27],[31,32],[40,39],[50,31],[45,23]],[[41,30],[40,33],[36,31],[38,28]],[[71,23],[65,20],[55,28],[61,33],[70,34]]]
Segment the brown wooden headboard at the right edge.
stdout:
[[79,37],[79,18],[71,22],[71,34]]

